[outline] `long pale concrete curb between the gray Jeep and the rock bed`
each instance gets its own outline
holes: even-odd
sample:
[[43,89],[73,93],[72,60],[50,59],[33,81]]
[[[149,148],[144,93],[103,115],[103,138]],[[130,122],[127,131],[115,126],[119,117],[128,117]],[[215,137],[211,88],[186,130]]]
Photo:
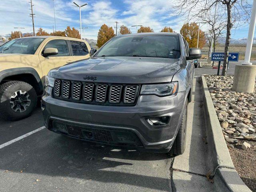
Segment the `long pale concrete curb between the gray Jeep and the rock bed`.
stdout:
[[214,176],[216,190],[252,192],[244,184],[234,168],[204,75],[201,76],[201,81],[204,100],[204,121],[208,141],[208,166],[211,176]]

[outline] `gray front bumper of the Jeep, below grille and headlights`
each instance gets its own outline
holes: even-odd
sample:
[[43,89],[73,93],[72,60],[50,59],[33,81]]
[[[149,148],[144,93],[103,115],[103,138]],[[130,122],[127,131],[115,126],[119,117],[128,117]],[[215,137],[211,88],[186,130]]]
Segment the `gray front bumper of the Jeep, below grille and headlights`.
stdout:
[[[186,92],[178,92],[167,97],[139,96],[136,106],[101,106],[58,100],[52,98],[51,93],[48,87],[42,96],[44,124],[49,130],[82,140],[154,152],[168,152],[172,147],[186,101]],[[164,126],[151,126],[146,121],[148,117],[159,116],[170,116],[170,121]],[[66,127],[64,132],[56,128],[57,124]],[[74,129],[78,130],[78,136],[75,136]],[[103,133],[106,130],[113,138],[123,135],[123,142],[88,138],[86,134],[90,132],[96,136],[94,130]],[[125,142],[126,138],[132,138],[134,143]]]

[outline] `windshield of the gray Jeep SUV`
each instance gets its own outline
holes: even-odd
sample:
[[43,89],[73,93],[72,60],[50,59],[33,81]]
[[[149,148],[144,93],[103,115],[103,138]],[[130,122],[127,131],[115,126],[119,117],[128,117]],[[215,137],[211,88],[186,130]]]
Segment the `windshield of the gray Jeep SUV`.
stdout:
[[177,35],[136,35],[112,38],[94,57],[127,56],[179,58]]

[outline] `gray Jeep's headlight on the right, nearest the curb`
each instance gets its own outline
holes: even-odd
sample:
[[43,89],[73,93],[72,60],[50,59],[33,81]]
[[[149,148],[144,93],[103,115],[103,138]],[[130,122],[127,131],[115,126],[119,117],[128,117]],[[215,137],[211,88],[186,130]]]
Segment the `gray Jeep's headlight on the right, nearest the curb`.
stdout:
[[156,95],[156,96],[168,96],[176,92],[178,82],[165,83],[165,84],[150,84],[142,85],[141,95]]

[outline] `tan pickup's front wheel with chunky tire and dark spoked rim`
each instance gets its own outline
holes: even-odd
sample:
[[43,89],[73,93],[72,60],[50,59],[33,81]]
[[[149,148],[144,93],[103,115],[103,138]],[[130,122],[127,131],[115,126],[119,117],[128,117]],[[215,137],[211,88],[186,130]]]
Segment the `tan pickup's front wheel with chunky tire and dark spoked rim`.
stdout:
[[23,81],[9,81],[0,86],[0,117],[20,120],[31,115],[36,107],[34,88]]

